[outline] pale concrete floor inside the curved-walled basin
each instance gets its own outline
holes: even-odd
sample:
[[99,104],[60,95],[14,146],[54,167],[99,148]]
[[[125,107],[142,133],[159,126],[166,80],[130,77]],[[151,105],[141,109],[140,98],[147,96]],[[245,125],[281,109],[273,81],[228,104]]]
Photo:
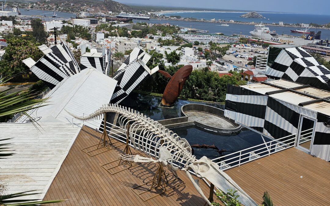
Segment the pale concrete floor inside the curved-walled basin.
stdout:
[[230,122],[213,114],[200,111],[187,111],[185,114],[188,116],[188,121],[195,121],[203,125],[221,129],[235,129]]

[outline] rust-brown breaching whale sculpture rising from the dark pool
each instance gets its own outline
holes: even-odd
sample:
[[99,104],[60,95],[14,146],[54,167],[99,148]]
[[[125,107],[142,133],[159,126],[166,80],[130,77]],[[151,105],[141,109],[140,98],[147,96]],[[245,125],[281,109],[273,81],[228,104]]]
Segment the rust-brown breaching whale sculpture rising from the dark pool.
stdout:
[[170,81],[167,83],[164,90],[161,104],[163,106],[172,106],[175,101],[177,101],[184,82],[192,72],[192,66],[186,65],[181,67],[173,76],[162,70],[158,70],[158,72],[163,74],[165,77],[170,78]]

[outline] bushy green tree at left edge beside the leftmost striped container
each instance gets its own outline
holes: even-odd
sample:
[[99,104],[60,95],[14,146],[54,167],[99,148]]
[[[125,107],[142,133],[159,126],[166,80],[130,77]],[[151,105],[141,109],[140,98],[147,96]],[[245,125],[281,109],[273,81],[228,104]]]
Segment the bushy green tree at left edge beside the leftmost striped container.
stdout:
[[8,46],[5,48],[5,54],[0,61],[0,73],[6,76],[13,76],[28,70],[28,67],[22,60],[31,57],[38,61],[43,53],[38,48],[38,43],[33,43],[23,39],[8,39]]

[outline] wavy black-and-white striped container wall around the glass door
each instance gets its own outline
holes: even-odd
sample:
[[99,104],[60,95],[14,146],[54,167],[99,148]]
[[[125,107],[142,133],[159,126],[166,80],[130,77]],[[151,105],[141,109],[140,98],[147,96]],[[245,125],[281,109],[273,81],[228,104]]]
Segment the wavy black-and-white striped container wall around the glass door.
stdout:
[[227,87],[224,115],[274,139],[298,133],[301,115],[317,119],[311,154],[330,161],[327,115],[232,85]]

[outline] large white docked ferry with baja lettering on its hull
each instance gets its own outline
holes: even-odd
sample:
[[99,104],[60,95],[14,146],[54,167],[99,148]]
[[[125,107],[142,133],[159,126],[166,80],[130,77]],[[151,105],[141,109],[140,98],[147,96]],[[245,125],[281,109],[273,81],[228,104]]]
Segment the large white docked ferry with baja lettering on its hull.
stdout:
[[290,36],[290,35],[278,35],[275,30],[270,31],[269,27],[265,25],[258,24],[254,26],[254,30],[250,31],[252,37],[257,37],[263,40],[270,40],[271,42],[276,42],[280,44],[295,44],[295,45],[306,45],[306,44],[316,44],[320,42],[321,32],[311,32],[306,38]]

